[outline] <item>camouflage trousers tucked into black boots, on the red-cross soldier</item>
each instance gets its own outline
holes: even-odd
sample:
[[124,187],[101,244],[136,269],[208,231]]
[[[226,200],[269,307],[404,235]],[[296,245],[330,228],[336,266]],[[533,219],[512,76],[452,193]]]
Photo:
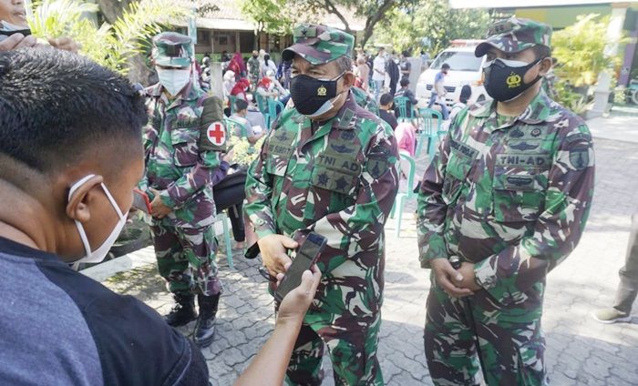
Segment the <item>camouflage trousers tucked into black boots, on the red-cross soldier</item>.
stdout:
[[153,225],[150,227],[160,276],[170,292],[221,292],[217,278],[217,240],[212,226],[189,229]]

